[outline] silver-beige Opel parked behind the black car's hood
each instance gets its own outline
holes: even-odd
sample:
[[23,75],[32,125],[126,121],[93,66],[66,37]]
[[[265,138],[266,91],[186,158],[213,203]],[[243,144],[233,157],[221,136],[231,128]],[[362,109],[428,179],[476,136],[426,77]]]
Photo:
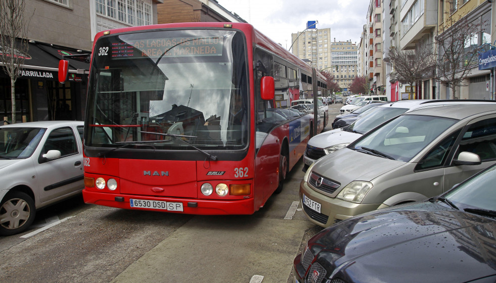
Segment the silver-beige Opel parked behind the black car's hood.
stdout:
[[310,166],[305,215],[330,226],[423,200],[496,162],[496,103],[432,106],[400,115]]

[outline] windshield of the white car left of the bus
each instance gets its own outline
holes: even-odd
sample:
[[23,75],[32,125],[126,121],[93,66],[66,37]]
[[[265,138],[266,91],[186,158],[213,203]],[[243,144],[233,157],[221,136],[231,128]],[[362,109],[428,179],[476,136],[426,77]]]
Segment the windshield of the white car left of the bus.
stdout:
[[30,157],[43,136],[45,128],[0,128],[0,159]]

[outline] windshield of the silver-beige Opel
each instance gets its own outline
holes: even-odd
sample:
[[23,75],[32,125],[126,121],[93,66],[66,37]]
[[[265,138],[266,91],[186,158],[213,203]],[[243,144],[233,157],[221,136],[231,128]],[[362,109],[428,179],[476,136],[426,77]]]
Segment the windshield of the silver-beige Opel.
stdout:
[[456,122],[442,117],[402,115],[358,140],[352,149],[409,162]]

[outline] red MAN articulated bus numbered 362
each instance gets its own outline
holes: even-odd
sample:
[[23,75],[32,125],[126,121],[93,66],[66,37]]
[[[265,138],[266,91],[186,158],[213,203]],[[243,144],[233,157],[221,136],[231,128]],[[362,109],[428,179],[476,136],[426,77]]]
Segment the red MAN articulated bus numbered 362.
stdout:
[[289,108],[315,80],[325,91],[325,78],[250,24],[104,31],[91,57],[86,203],[252,214],[281,191],[313,124],[320,132],[328,118]]

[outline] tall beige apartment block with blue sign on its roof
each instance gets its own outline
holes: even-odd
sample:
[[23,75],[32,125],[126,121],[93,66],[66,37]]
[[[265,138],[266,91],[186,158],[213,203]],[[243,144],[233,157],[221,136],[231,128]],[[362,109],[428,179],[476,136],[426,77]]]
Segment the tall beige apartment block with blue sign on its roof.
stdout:
[[294,42],[291,52],[300,59],[311,61],[311,66],[324,70],[331,67],[331,29],[307,29],[291,34]]

